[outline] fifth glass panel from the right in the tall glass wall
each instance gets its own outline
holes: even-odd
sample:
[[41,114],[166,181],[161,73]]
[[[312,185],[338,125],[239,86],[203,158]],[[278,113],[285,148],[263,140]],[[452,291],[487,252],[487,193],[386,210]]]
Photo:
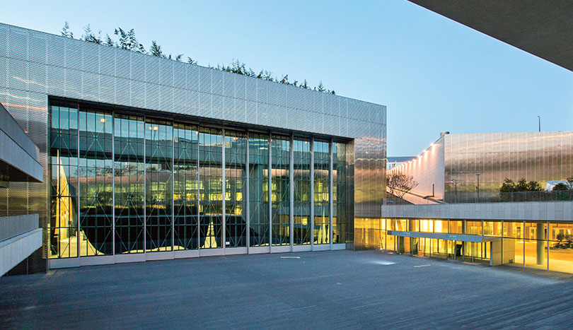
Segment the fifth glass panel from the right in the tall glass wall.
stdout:
[[249,133],[249,225],[251,247],[269,244],[269,135]]

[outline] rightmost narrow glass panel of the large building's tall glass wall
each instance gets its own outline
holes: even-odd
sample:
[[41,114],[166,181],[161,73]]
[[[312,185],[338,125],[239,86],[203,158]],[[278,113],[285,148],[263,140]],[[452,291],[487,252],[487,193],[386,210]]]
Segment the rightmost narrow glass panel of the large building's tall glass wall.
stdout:
[[332,243],[345,243],[347,227],[346,145],[332,143]]

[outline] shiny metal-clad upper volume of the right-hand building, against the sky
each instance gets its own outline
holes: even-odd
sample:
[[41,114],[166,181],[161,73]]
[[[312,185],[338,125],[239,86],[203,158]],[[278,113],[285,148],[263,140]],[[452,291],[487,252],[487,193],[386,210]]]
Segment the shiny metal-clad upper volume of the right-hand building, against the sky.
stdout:
[[[547,182],[573,177],[573,131],[448,134],[388,170],[412,176],[412,204],[498,201],[505,179]],[[478,189],[479,187],[479,189]]]

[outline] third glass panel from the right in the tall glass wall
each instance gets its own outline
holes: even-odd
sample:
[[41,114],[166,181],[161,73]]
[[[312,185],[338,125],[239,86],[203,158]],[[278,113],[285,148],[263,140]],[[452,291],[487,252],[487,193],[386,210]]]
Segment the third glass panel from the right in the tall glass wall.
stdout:
[[294,244],[311,244],[311,141],[294,139]]

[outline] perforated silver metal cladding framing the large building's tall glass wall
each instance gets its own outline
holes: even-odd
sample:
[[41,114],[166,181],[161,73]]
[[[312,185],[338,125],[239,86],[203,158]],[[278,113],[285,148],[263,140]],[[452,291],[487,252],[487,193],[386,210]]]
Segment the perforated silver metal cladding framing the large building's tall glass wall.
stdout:
[[[348,139],[354,216],[380,216],[383,105],[0,24],[0,102],[40,148],[45,177],[49,96]],[[39,213],[45,226],[47,194],[46,183],[0,189],[0,215]]]

